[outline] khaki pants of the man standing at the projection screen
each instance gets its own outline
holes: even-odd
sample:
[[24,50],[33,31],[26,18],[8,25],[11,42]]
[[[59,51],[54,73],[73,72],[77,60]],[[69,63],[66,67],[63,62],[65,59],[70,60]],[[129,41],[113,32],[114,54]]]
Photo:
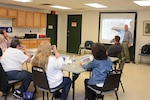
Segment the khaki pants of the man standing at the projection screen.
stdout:
[[126,62],[130,62],[130,54],[128,48],[128,42],[122,42],[123,55],[122,57],[126,57]]

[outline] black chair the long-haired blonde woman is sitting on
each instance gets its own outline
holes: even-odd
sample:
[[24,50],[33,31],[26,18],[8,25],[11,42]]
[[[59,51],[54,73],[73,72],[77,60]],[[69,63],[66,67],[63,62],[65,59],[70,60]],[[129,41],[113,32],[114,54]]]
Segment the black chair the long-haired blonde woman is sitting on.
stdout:
[[33,66],[32,67],[32,78],[33,78],[33,84],[35,86],[35,91],[36,89],[39,89],[43,92],[43,100],[44,100],[44,93],[47,93],[47,99],[48,99],[48,93],[52,93],[52,100],[54,98],[54,93],[63,87],[58,87],[55,89],[50,89],[46,73],[43,68],[38,67],[38,66]]

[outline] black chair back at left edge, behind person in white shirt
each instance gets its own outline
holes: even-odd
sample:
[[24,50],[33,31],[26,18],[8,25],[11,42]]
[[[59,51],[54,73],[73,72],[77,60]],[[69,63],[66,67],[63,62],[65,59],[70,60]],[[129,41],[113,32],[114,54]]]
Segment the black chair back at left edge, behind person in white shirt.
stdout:
[[0,91],[6,92],[8,87],[8,79],[6,73],[0,63]]

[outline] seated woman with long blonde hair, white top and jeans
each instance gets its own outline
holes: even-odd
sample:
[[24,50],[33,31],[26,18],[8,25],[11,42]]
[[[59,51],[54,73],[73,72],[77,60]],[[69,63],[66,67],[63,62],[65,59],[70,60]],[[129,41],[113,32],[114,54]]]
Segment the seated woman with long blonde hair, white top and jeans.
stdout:
[[[52,50],[54,55],[52,55]],[[61,70],[63,64],[64,60],[58,53],[56,46],[51,46],[47,41],[40,43],[32,60],[32,66],[39,66],[45,69],[50,88],[64,87],[60,100],[67,100],[71,79],[63,76],[64,74]]]

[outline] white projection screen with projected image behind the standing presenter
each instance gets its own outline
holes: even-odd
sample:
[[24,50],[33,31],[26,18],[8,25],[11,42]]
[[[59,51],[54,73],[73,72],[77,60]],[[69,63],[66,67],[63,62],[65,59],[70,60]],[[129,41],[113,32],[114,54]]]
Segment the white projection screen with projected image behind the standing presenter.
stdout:
[[[124,37],[124,25],[128,25],[128,30],[132,33],[133,38],[134,22],[134,13],[102,13],[100,17],[100,42],[112,44],[112,39],[115,37],[115,35],[120,36],[120,42],[122,42]],[[122,31],[114,31],[112,28],[119,29]]]

